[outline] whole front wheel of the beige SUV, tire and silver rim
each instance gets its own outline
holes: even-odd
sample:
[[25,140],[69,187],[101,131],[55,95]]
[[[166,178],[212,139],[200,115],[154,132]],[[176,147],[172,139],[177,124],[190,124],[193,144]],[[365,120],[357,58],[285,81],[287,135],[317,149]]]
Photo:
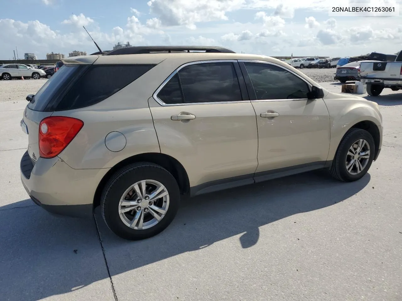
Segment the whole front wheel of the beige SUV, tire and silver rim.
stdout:
[[343,182],[361,179],[369,170],[375,155],[374,139],[369,132],[353,128],[336,150],[330,173]]

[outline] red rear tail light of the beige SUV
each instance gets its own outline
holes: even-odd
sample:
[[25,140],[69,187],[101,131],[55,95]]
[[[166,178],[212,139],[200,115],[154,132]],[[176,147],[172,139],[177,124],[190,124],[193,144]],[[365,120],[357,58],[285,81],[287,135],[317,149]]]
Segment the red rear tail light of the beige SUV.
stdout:
[[53,158],[66,148],[84,126],[82,120],[50,116],[39,123],[39,155],[42,158]]

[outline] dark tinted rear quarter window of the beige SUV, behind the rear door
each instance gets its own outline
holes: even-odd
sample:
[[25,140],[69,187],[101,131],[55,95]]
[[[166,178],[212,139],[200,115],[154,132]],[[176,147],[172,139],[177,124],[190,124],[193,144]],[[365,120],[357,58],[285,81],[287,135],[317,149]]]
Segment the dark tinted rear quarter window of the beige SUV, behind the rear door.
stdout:
[[[60,70],[63,70],[65,66]],[[151,64],[92,65],[68,91],[57,105],[56,110],[83,108],[101,102],[135,81],[154,66]],[[55,73],[55,75],[57,74],[59,71]]]

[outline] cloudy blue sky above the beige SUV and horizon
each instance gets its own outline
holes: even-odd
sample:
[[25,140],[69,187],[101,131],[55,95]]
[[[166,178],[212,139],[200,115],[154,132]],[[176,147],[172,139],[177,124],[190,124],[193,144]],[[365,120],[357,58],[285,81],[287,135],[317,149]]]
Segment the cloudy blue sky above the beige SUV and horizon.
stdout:
[[[358,2],[367,2],[360,0]],[[377,0],[378,1],[378,0]],[[389,0],[381,0],[389,1]],[[402,48],[402,17],[329,17],[330,0],[1,0],[0,59],[131,45],[219,45],[263,55],[347,56]],[[357,1],[355,1],[357,2]],[[401,1],[396,1],[400,3]]]

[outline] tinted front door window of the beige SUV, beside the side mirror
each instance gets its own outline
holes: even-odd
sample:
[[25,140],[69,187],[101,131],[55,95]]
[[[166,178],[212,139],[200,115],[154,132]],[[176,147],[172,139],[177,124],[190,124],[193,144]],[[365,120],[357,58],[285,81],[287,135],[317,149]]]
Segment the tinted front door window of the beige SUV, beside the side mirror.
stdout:
[[305,99],[309,92],[305,81],[274,65],[244,63],[257,100]]

